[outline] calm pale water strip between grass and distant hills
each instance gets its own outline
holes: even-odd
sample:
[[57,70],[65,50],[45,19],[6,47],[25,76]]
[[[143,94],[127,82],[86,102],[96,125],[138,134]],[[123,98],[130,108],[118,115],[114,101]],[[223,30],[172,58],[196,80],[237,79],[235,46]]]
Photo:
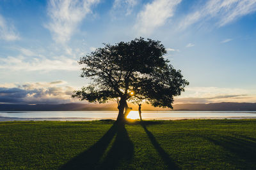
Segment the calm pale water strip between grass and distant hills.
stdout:
[[[13,120],[100,120],[116,119],[118,111],[0,111],[0,121]],[[138,111],[127,118],[138,119]],[[256,118],[256,111],[142,111],[145,120],[179,120],[185,118]]]

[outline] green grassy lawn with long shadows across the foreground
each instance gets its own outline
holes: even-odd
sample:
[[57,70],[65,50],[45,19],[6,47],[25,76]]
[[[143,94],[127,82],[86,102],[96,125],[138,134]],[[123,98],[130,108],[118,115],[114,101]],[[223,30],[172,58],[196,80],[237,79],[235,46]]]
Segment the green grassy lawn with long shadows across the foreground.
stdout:
[[0,122],[0,169],[256,169],[256,120]]

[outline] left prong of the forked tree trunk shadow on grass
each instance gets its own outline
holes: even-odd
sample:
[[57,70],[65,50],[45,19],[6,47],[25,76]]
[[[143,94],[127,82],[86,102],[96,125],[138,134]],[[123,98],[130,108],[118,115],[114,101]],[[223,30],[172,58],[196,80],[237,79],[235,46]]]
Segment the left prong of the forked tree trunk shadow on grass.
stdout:
[[114,138],[117,131],[117,124],[114,123],[112,127],[97,141],[93,146],[88,148],[83,153],[80,153],[73,159],[69,160],[60,169],[95,169],[109,143]]

